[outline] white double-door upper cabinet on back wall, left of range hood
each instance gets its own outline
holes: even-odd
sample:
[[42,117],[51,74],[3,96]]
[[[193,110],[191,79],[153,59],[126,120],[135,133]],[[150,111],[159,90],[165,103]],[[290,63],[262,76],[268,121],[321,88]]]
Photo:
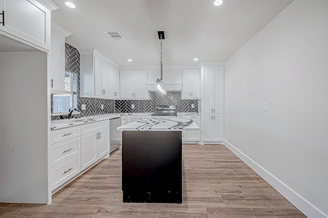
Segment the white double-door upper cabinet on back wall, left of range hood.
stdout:
[[147,70],[120,70],[119,77],[121,99],[149,99]]

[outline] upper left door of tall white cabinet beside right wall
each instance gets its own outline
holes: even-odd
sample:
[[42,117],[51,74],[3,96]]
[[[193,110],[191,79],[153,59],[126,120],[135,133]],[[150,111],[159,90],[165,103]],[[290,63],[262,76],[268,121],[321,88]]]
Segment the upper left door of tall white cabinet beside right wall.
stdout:
[[202,114],[213,113],[213,89],[213,68],[206,67],[203,69]]

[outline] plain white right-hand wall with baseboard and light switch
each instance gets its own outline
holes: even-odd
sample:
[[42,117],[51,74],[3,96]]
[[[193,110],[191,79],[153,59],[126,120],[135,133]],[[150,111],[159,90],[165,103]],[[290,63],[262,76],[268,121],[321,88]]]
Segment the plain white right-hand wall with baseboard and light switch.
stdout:
[[225,145],[328,217],[328,1],[286,7],[227,61],[224,87]]

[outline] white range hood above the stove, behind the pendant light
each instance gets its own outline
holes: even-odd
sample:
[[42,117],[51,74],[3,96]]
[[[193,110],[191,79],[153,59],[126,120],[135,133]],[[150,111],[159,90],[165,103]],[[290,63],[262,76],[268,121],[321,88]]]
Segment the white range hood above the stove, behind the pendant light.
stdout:
[[[154,81],[160,77],[160,66],[148,66],[147,90],[155,92]],[[163,82],[168,92],[182,90],[182,67],[163,66]],[[159,76],[159,77],[158,77]]]

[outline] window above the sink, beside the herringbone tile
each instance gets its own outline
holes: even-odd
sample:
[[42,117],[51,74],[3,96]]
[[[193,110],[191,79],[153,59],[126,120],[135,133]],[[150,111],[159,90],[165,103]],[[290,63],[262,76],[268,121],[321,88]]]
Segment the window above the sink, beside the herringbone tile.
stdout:
[[65,94],[53,94],[52,113],[68,113],[71,107],[77,108],[77,75],[65,72]]

